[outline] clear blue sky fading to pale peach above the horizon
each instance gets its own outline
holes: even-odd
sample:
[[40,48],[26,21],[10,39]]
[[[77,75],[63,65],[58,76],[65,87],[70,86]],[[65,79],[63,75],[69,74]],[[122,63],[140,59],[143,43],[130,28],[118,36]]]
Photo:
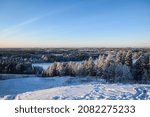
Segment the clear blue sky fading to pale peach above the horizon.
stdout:
[[0,47],[150,47],[150,1],[0,0]]

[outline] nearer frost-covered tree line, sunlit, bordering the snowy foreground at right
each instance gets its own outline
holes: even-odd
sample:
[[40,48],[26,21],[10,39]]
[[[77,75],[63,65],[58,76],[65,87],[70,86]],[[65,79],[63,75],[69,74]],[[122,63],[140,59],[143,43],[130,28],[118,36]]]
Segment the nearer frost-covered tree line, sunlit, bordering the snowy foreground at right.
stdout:
[[110,82],[150,80],[150,54],[133,59],[132,50],[90,57],[83,62],[57,62],[44,70],[42,76],[96,76]]

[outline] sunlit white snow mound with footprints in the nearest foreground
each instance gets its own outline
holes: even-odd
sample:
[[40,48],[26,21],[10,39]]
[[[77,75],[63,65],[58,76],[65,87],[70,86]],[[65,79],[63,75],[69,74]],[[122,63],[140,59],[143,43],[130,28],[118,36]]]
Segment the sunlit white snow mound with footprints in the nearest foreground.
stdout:
[[129,100],[150,99],[149,85],[84,84],[63,86],[17,95],[15,99],[63,100]]

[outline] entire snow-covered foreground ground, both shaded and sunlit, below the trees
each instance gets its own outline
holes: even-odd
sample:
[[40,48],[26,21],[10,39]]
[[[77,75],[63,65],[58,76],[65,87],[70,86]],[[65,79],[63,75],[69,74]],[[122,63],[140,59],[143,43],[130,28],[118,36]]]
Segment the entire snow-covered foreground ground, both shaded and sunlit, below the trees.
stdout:
[[8,100],[149,100],[150,85],[106,83],[94,77],[0,80],[0,99]]

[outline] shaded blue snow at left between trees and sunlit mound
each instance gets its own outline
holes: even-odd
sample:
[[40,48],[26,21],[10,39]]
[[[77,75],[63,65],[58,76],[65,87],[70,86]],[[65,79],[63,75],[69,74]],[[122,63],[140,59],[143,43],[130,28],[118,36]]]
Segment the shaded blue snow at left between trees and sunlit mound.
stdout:
[[13,99],[20,93],[66,85],[68,79],[70,77],[42,78],[29,76],[24,78],[16,75],[8,80],[0,80],[0,99]]

